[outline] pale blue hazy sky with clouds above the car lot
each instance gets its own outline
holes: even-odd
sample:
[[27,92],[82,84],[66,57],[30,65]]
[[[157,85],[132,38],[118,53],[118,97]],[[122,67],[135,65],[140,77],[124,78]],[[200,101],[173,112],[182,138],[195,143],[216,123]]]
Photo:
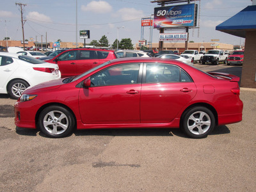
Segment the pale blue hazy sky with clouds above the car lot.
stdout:
[[[136,44],[141,39],[141,18],[150,17],[154,8],[159,7],[151,1],[154,0],[0,0],[0,39],[3,40],[7,33],[11,40],[22,40],[20,6],[15,4],[22,3],[26,4],[22,6],[26,20],[25,39],[41,42],[42,36],[45,42],[47,36],[47,42],[58,39],[62,42],[76,43],[76,39],[84,42],[79,38],[79,31],[90,30],[86,44],[92,40],[99,41],[103,35],[107,36],[109,44],[113,44],[116,38],[131,38],[132,44]],[[189,41],[220,39],[223,44],[244,45],[244,38],[216,31],[215,28],[252,5],[251,0],[201,0],[196,4],[199,6],[199,28],[189,29]],[[149,42],[150,28],[144,27],[143,31],[143,38]],[[167,33],[184,32],[182,29]],[[159,30],[153,29],[152,39],[154,43],[159,41]]]

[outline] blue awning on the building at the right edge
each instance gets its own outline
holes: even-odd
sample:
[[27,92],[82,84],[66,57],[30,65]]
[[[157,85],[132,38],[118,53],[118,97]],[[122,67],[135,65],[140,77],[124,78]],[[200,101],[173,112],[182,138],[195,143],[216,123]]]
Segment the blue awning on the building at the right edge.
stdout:
[[216,26],[216,30],[245,38],[246,31],[256,30],[256,5],[247,6],[241,12]]

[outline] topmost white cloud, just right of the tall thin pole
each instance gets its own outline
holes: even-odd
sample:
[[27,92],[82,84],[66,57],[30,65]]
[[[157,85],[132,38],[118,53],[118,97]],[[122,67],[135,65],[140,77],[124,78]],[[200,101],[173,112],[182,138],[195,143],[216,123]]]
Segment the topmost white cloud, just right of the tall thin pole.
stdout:
[[81,10],[84,12],[109,13],[112,6],[106,1],[91,1],[86,6],[82,5]]

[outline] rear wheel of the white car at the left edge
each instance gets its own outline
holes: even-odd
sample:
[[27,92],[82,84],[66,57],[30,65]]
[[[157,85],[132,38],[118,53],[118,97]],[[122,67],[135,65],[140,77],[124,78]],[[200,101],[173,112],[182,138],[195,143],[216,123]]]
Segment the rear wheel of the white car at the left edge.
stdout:
[[19,99],[21,94],[29,87],[29,84],[22,80],[17,79],[8,84],[7,91],[12,99]]

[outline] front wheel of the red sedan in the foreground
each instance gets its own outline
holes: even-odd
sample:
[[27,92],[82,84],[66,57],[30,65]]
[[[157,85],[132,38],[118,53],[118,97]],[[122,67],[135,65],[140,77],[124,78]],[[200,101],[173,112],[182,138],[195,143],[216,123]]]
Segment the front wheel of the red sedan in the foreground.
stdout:
[[49,106],[40,113],[38,125],[47,136],[63,138],[72,132],[75,120],[68,109],[61,106]]

